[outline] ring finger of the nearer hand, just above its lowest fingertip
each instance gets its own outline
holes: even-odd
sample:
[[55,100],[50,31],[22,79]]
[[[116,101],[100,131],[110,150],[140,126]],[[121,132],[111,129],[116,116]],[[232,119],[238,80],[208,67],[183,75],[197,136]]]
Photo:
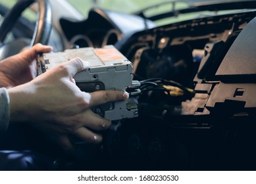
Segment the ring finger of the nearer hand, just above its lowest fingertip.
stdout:
[[94,133],[87,129],[86,127],[80,127],[74,132],[74,135],[76,137],[82,139],[82,141],[85,141],[86,143],[101,143],[102,141],[102,135],[99,133]]

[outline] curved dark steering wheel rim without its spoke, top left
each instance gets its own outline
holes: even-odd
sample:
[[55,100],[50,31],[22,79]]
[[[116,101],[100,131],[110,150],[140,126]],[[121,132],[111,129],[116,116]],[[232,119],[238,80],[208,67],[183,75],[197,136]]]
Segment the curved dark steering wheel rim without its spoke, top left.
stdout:
[[[13,28],[16,20],[21,16],[22,12],[36,0],[21,0],[7,13],[0,27],[0,43],[3,43],[6,35]],[[48,0],[37,0],[39,7],[38,20],[34,29],[34,34],[30,45],[41,43],[47,45],[52,28],[51,5]]]

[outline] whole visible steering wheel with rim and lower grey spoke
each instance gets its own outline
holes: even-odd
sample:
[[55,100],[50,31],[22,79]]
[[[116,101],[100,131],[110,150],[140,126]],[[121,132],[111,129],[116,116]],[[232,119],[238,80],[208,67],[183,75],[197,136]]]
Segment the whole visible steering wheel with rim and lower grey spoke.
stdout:
[[[20,0],[14,7],[7,12],[5,20],[0,27],[0,60],[18,53],[22,48],[29,45],[25,39],[16,39],[9,43],[3,44],[6,35],[11,31],[15,22],[21,16],[22,12],[28,8],[36,0]],[[38,19],[34,29],[34,34],[30,45],[42,43],[47,45],[52,28],[52,12],[51,5],[48,0],[37,0],[38,2]]]

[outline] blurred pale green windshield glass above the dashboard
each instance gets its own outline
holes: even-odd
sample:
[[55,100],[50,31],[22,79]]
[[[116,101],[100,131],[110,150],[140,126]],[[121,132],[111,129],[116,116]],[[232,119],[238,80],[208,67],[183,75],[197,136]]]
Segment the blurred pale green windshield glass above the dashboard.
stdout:
[[[97,7],[110,11],[118,11],[129,14],[140,14],[145,16],[145,18],[156,17],[159,14],[167,14],[168,12],[178,12],[181,9],[188,9],[192,3],[203,2],[203,0],[186,0],[186,1],[176,1],[176,0],[67,0],[72,6],[74,6],[79,12],[81,12],[84,18],[87,18],[88,12],[91,8]],[[213,2],[209,1],[208,2]],[[204,1],[204,2],[207,2]],[[234,0],[238,1],[238,0]],[[221,2],[230,2],[230,0],[223,0]],[[236,10],[238,11],[238,10]],[[226,14],[230,11],[201,11],[201,12],[186,12],[184,14],[177,13],[172,14],[172,16],[166,16],[162,18],[157,18],[155,23],[159,26],[164,24],[170,24],[173,22],[180,22],[182,20],[190,20],[194,18],[200,18],[204,16],[212,16],[213,14]]]

